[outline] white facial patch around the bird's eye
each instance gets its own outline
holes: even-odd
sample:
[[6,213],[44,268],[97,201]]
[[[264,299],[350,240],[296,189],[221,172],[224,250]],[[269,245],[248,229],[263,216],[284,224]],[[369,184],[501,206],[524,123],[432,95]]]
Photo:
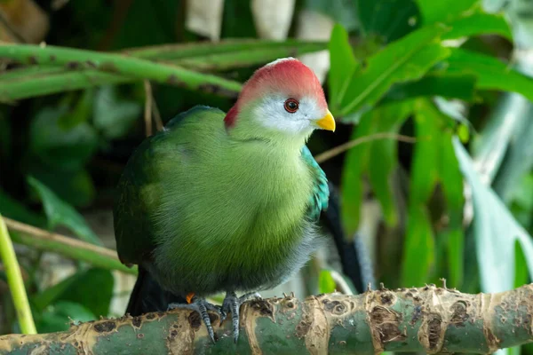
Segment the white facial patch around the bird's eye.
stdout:
[[316,128],[314,122],[321,119],[323,110],[311,98],[299,100],[298,111],[291,114],[285,110],[286,96],[269,95],[255,107],[253,116],[259,123],[270,130],[279,130],[291,134],[310,133]]

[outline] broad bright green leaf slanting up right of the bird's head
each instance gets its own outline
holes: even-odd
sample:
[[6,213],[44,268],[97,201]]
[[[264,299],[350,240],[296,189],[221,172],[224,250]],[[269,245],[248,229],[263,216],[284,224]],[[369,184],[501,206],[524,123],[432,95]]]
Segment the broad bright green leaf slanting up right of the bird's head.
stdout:
[[370,109],[394,83],[418,80],[448,57],[449,49],[434,43],[445,30],[442,26],[418,29],[370,57],[368,66],[350,79],[340,114]]

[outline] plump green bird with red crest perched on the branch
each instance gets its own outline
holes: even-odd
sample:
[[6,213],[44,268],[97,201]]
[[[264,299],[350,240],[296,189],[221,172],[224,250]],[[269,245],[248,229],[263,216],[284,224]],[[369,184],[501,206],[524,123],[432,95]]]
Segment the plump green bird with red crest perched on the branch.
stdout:
[[[297,59],[277,59],[227,114],[179,114],[123,171],[114,210],[121,261],[186,298],[169,308],[199,312],[213,341],[208,310],[231,312],[236,342],[240,305],[288,280],[321,245],[328,181],[306,147],[316,129],[335,130],[321,83]],[[221,291],[221,307],[205,300]]]

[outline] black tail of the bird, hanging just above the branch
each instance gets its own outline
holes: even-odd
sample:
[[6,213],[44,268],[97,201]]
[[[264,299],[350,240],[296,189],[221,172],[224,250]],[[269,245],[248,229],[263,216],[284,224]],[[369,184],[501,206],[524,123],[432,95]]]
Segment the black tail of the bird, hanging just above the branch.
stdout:
[[187,301],[161,288],[147,269],[139,265],[139,276],[131,291],[126,313],[136,317],[148,312],[164,312],[173,303],[185,304]]

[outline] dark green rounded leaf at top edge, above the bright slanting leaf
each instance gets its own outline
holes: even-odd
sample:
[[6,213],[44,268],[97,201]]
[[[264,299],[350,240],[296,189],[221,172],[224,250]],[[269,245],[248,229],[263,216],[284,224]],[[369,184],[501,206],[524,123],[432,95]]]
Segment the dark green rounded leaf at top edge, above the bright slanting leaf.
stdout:
[[414,0],[355,0],[362,31],[392,42],[418,28],[420,13]]

